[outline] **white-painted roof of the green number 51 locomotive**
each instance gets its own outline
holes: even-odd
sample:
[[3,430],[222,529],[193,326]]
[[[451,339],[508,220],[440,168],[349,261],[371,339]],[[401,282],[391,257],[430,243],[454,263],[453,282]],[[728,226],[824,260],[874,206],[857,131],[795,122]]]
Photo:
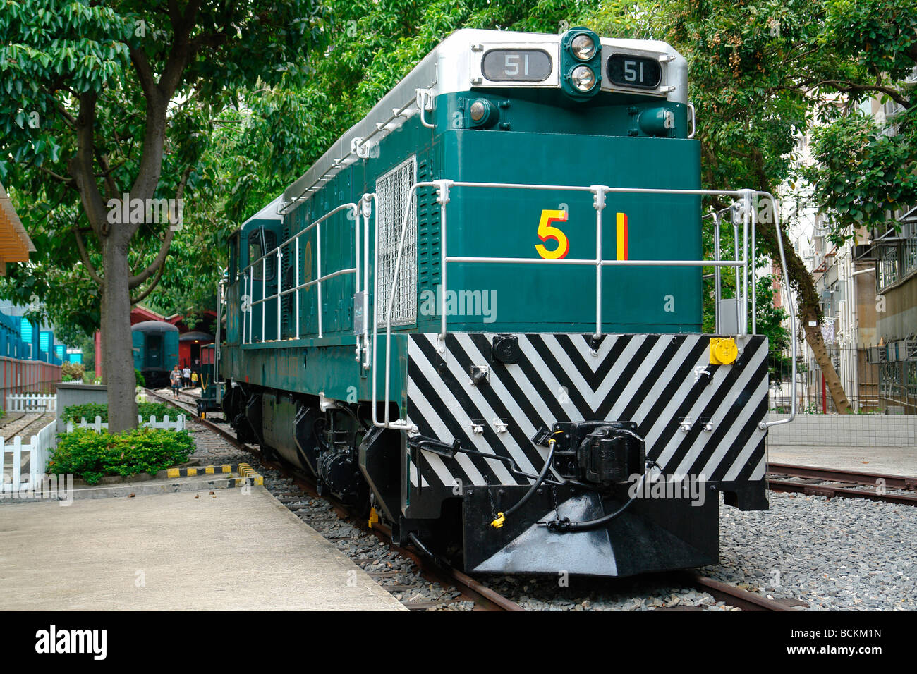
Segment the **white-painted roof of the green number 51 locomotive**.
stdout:
[[[373,140],[384,138],[392,129],[388,123],[392,113],[401,111],[402,117],[414,116],[418,109],[414,104],[418,89],[429,89],[434,97],[439,94],[468,91],[473,77],[471,53],[472,47],[480,45],[538,46],[558,45],[561,36],[553,33],[524,33],[510,30],[483,30],[462,28],[450,34],[436,45],[414,69],[404,76],[388,94],[382,96],[367,116],[337,138],[335,143],[315,164],[296,182],[293,182],[282,194],[279,211],[286,214],[299,204],[307,201],[312,193],[318,192],[325,182],[331,180],[339,171],[356,160],[354,143],[359,144],[364,138],[373,135]],[[666,83],[671,87],[669,101],[688,102],[688,64],[678,51],[667,42],[644,39],[609,39],[602,38],[602,48],[617,48],[625,51],[652,52],[657,55],[668,55],[668,77]],[[480,50],[480,49],[479,49]],[[525,83],[527,86],[539,86],[538,83]],[[544,86],[543,84],[541,86]],[[551,84],[557,88],[558,84]],[[393,127],[392,127],[393,128]],[[275,200],[276,201],[276,200]],[[273,202],[271,202],[273,204]],[[256,215],[257,216],[257,215]],[[244,225],[243,225],[244,227]]]

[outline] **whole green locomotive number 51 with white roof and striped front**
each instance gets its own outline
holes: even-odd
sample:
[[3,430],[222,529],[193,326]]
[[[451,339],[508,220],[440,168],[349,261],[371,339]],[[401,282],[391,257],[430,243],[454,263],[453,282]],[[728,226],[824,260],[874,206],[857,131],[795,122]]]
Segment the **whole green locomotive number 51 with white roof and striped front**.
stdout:
[[[720,492],[768,506],[769,197],[702,190],[693,131],[664,42],[453,33],[230,239],[227,419],[469,571],[715,562]],[[744,289],[716,335],[703,266]]]

